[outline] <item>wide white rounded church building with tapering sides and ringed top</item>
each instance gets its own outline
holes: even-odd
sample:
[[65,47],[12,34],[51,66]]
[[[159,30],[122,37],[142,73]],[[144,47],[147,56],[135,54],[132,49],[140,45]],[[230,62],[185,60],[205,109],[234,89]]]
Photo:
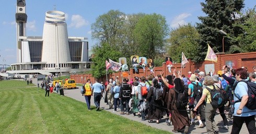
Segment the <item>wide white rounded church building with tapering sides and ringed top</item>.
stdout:
[[43,25],[42,62],[46,69],[71,68],[67,24],[62,11],[47,11]]

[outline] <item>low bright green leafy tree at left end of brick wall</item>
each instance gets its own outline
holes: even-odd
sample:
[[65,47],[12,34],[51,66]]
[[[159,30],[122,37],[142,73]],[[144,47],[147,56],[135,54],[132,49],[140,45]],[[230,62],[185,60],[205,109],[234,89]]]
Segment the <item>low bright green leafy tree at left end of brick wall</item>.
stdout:
[[[94,64],[91,65],[92,75],[96,78],[106,75],[106,60],[118,61],[118,58],[121,57],[121,52],[110,47],[108,43],[101,45],[96,45],[92,48],[95,56],[92,58]],[[108,71],[111,73],[112,71]]]

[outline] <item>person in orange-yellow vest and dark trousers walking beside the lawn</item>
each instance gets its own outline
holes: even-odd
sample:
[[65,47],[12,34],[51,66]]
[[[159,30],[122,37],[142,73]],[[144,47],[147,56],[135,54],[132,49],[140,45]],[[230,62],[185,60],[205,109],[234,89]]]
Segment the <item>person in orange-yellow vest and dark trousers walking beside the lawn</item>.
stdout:
[[89,111],[91,111],[91,96],[92,96],[92,91],[91,91],[91,80],[87,79],[87,83],[84,85],[84,89],[85,89],[85,101],[87,104],[87,108]]

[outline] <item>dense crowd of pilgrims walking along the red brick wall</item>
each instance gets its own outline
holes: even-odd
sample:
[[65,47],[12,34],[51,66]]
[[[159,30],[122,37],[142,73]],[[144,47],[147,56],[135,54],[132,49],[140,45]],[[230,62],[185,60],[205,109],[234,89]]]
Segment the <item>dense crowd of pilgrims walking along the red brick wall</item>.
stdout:
[[[242,70],[244,71],[245,69]],[[239,71],[240,74],[238,77],[242,75],[241,69]],[[231,111],[231,108],[234,108],[234,104],[230,101],[221,108],[213,108],[210,103],[211,95],[206,89],[206,87],[210,89],[213,89],[214,87],[219,88],[222,86],[221,80],[227,81],[230,85],[234,84],[234,78],[231,77],[236,76],[236,71],[233,70],[233,72],[231,72],[228,70],[227,66],[225,66],[223,67],[223,71],[219,71],[218,74],[214,74],[210,71],[205,75],[204,72],[200,72],[199,70],[194,71],[194,73],[188,73],[188,76],[185,76],[181,75],[180,71],[173,71],[172,75],[163,76],[163,73],[161,72],[157,76],[150,74],[148,76],[131,78],[130,81],[129,79],[123,78],[121,79],[122,82],[120,82],[119,77],[115,77],[115,79],[111,78],[104,85],[101,83],[105,87],[104,90],[106,90],[106,96],[104,99],[109,105],[109,109],[112,109],[114,106],[114,112],[117,112],[117,108],[121,105],[120,114],[129,115],[132,113],[134,116],[142,118],[143,121],[148,120],[148,123],[159,124],[159,122],[162,121],[161,119],[164,119],[164,116],[166,115],[168,118],[165,122],[168,126],[173,125],[172,132],[188,133],[190,125],[195,125],[195,123],[197,128],[204,128],[204,124],[202,122],[204,121],[207,133],[218,133],[219,130],[214,121],[216,112],[220,113],[220,116],[223,118],[224,125],[222,126],[222,129],[229,129],[224,109],[229,111],[228,119],[230,120],[230,123],[232,123],[232,121],[233,123],[240,122],[239,119],[245,119],[241,117],[236,120],[232,120],[233,117],[236,116],[232,116],[234,115],[234,110]],[[255,74],[253,75],[254,80]],[[235,79],[238,78],[235,77]],[[130,85],[129,87],[131,88],[131,97],[128,99],[122,96],[122,92],[124,90],[123,85],[126,84]],[[189,105],[189,102],[188,106],[177,109],[176,103],[174,103],[175,100],[177,100],[176,91],[187,92],[188,100],[190,101],[190,98],[193,97],[194,84],[202,86],[203,95],[199,99],[195,99],[192,105]],[[141,90],[143,86],[147,87],[148,93],[147,95],[139,97],[139,94],[142,93],[139,93],[138,90]],[[115,89],[114,93],[111,93],[112,87]],[[153,98],[154,89],[161,87],[163,89],[162,98],[161,100],[155,100]],[[244,106],[244,108],[246,108],[246,106]],[[238,115],[236,111],[235,114]],[[253,115],[254,119],[255,114],[256,112],[251,112],[248,116],[252,117]],[[195,122],[195,119],[197,119],[197,122]],[[249,123],[246,122],[246,124]],[[248,128],[249,133],[256,133],[255,119],[251,125],[252,126]],[[242,124],[233,124],[231,133],[239,133],[241,126]]]

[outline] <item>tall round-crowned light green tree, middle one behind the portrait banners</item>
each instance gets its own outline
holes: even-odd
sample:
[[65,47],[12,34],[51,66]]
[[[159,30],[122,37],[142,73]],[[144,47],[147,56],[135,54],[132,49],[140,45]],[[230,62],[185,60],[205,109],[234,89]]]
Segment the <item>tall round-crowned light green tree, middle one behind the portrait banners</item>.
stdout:
[[133,31],[139,56],[154,59],[162,53],[169,34],[169,25],[164,16],[158,14],[145,15],[136,24]]

